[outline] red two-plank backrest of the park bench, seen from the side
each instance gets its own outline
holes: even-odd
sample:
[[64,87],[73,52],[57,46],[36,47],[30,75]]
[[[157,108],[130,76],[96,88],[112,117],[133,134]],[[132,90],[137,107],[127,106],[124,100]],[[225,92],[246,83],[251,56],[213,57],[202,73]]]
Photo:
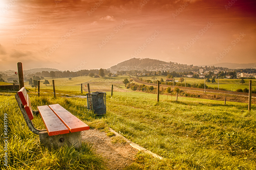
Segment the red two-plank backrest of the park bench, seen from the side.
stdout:
[[30,120],[34,119],[34,116],[33,116],[33,111],[32,111],[32,108],[31,108],[31,102],[30,102],[30,98],[27,94],[27,91],[25,89],[25,87],[21,88],[19,91],[18,91],[18,95],[19,95],[19,99],[20,101],[22,102],[23,106],[24,106],[24,109],[28,115],[28,118]]

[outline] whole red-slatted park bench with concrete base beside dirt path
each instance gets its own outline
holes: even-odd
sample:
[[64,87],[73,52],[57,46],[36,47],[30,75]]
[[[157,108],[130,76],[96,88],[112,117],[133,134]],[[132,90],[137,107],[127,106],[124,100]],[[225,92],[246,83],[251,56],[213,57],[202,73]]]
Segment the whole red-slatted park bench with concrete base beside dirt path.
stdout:
[[[65,144],[74,146],[74,148],[81,147],[81,131],[89,130],[90,127],[76,116],[72,115],[59,104],[38,106],[38,111],[33,111],[25,87],[16,93],[15,98],[28,128],[36,135],[39,135],[40,144],[44,147],[48,149],[58,148]],[[38,130],[33,125],[33,113],[38,112],[42,117],[46,129]]]

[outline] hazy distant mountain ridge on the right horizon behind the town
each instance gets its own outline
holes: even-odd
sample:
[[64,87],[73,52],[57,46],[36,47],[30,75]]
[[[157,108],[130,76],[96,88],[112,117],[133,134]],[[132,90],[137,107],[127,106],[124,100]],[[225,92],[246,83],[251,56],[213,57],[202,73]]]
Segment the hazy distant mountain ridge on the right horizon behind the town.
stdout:
[[255,68],[256,63],[247,63],[247,64],[237,64],[237,63],[217,63],[212,65],[199,65],[198,67],[227,67],[229,69],[246,69],[246,68]]

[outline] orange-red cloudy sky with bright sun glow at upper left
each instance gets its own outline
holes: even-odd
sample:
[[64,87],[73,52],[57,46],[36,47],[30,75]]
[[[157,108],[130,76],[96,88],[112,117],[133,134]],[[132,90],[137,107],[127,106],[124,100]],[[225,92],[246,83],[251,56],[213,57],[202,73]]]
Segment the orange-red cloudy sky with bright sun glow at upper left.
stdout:
[[0,70],[256,62],[254,0],[0,0]]

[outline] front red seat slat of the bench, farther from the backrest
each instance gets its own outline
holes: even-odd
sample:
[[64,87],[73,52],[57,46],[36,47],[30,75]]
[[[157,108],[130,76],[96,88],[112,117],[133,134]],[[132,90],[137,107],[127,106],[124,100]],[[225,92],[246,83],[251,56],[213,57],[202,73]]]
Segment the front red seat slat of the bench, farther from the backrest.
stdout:
[[90,129],[90,127],[87,124],[83,123],[80,119],[72,115],[69,111],[67,111],[59,104],[51,104],[49,105],[49,107],[59,117],[59,119],[68,127],[70,132],[79,132]]

